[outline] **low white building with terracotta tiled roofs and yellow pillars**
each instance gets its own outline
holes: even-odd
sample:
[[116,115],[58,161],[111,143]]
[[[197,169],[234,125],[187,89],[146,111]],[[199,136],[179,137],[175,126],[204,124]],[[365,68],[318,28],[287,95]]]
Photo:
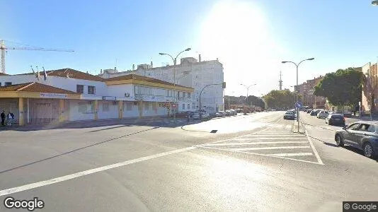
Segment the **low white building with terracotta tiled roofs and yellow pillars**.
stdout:
[[169,115],[173,94],[194,110],[193,88],[130,74],[101,78],[74,69],[0,76],[0,110],[20,125]]

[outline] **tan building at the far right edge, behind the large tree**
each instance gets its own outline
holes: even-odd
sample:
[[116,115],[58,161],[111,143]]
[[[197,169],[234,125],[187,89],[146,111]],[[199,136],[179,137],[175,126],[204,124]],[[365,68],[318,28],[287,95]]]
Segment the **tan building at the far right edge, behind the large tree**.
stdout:
[[370,112],[372,105],[377,110],[378,107],[378,66],[371,62],[362,66],[362,73],[366,76],[366,81],[362,85],[361,110]]

